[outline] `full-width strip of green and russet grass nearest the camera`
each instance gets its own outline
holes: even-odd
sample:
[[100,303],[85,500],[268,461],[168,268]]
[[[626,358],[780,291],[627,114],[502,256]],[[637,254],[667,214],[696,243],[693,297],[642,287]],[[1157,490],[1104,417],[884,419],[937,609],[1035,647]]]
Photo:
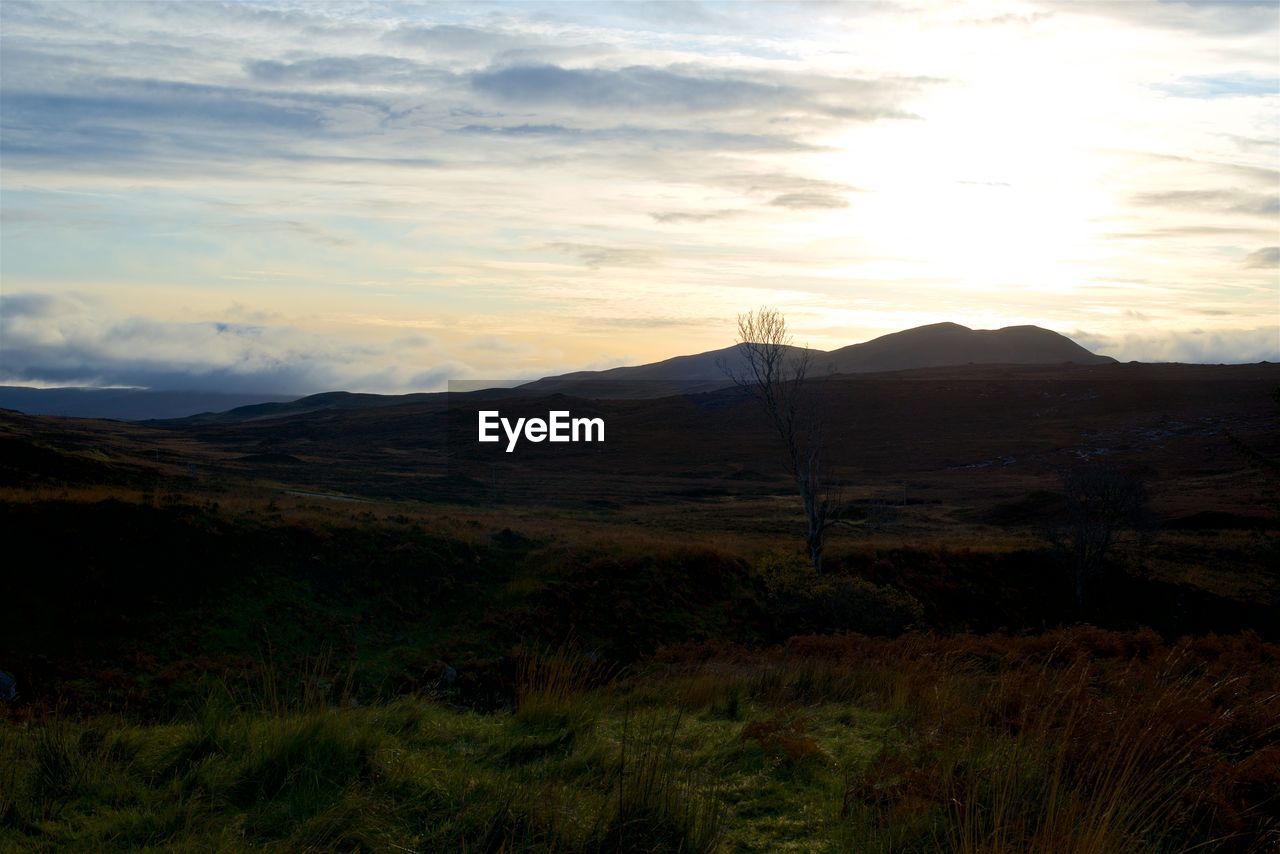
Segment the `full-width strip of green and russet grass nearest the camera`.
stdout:
[[544,650],[488,714],[224,689],[169,723],[0,727],[0,850],[1261,851],[1277,658],[849,636],[621,679]]

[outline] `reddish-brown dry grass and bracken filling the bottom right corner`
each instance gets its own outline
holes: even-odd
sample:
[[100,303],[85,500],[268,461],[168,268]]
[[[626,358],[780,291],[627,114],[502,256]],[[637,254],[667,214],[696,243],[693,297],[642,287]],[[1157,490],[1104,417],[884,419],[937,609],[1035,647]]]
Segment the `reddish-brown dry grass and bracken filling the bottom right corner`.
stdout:
[[[858,850],[1280,842],[1280,647],[1256,636],[1170,645],[1082,627],[723,652],[668,650],[663,679],[684,685],[686,703],[740,685],[744,702],[774,709],[742,736],[780,755],[809,753],[799,709],[847,703],[884,716],[896,735],[846,771],[837,807]],[[695,663],[703,656],[713,658]]]

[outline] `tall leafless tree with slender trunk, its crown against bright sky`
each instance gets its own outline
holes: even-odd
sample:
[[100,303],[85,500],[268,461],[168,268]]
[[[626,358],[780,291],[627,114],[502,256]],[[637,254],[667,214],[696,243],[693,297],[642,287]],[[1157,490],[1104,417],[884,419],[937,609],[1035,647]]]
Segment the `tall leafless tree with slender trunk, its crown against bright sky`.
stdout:
[[854,520],[824,469],[823,424],[808,388],[813,352],[795,347],[786,318],[767,306],[737,316],[737,352],[741,359],[721,362],[721,370],[760,403],[782,440],[787,471],[804,504],[809,561],[822,572],[827,531]]

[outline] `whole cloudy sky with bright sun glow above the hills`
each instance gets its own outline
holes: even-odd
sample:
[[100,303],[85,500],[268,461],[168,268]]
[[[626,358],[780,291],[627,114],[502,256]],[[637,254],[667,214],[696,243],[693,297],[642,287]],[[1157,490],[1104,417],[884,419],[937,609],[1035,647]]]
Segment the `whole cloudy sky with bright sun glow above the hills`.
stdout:
[[1280,361],[1280,5],[0,5],[0,383],[1036,324]]

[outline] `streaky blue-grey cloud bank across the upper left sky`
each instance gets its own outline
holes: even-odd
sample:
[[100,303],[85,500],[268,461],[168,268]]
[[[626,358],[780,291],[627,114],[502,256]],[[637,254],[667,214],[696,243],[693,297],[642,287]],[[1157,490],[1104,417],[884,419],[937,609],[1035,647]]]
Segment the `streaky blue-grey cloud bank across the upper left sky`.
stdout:
[[[627,54],[607,12],[593,29],[518,12],[422,23],[332,6],[10,6],[6,166],[111,177],[251,177],[278,161],[520,168],[589,149],[660,181],[681,166],[672,154],[806,151],[841,123],[908,117],[932,82],[783,70],[728,33],[704,52],[710,35],[669,44],[655,31],[654,54],[618,68]],[[722,61],[733,55],[745,61]]]

